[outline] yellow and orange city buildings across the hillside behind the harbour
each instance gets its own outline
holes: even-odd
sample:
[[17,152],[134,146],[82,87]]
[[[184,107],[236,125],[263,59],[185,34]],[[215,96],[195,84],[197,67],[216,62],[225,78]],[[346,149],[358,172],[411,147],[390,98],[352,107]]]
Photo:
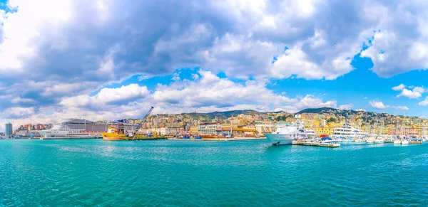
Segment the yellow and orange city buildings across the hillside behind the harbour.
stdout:
[[[221,113],[221,112],[219,112]],[[225,117],[226,113],[222,114]],[[389,134],[404,136],[426,136],[428,120],[419,117],[379,114],[374,112],[326,109],[318,112],[300,114],[300,121],[306,129],[313,129],[316,134],[332,135],[337,127],[350,124],[369,134]],[[216,136],[257,136],[274,132],[283,124],[295,122],[294,114],[287,112],[259,113],[246,111],[245,114],[231,115],[223,119],[217,115],[180,114],[151,115],[146,120],[128,120],[133,124],[141,124],[143,134],[199,134]],[[52,124],[25,124],[12,131],[10,123],[6,124],[4,136],[16,134],[27,136],[30,131],[50,129]]]

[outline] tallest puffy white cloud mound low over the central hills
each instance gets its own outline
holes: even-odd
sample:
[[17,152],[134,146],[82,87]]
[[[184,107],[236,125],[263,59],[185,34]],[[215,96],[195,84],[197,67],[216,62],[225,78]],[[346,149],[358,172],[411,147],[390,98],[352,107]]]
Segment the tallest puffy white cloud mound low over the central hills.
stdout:
[[218,78],[210,71],[200,70],[198,74],[200,78],[195,81],[183,80],[171,85],[158,85],[153,92],[153,100],[181,107],[231,106],[238,101],[266,105],[297,102],[296,99],[267,90],[263,82],[248,80],[245,84],[238,84],[227,78]]

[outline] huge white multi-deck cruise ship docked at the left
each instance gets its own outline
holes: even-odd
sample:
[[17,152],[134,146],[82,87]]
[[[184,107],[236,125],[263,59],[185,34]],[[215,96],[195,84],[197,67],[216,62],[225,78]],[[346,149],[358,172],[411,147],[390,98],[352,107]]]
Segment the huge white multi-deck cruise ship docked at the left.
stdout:
[[47,130],[38,130],[42,137],[101,137],[101,133],[107,132],[109,126],[117,127],[124,133],[133,132],[141,127],[139,124],[131,124],[127,122],[92,122],[83,119],[66,119],[60,124],[55,124],[54,127]]

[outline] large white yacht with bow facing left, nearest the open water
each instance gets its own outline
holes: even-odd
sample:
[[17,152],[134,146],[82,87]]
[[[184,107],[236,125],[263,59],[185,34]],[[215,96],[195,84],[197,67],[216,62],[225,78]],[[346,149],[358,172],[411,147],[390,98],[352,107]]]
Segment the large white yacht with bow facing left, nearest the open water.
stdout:
[[300,115],[295,115],[296,122],[289,126],[277,127],[273,133],[264,134],[265,137],[273,145],[292,144],[295,139],[307,139],[309,135],[306,133],[305,127],[300,122]]

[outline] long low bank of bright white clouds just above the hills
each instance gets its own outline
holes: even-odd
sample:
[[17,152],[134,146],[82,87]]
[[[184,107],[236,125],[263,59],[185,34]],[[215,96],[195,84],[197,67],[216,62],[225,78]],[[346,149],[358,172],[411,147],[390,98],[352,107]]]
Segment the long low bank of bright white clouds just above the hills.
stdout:
[[[158,85],[152,93],[145,86],[127,85],[103,88],[96,95],[65,97],[59,107],[45,107],[54,115],[40,114],[31,120],[56,122],[54,117],[86,117],[91,120],[138,118],[149,107],[153,113],[213,112],[224,110],[285,110],[297,112],[308,107],[337,107],[335,100],[323,101],[313,95],[287,97],[266,88],[265,83],[248,80],[235,83],[219,78],[210,71],[199,70],[197,80],[177,80],[170,85]],[[141,102],[131,101],[141,98]],[[21,121],[17,121],[21,122]],[[41,121],[42,122],[42,121]]]

